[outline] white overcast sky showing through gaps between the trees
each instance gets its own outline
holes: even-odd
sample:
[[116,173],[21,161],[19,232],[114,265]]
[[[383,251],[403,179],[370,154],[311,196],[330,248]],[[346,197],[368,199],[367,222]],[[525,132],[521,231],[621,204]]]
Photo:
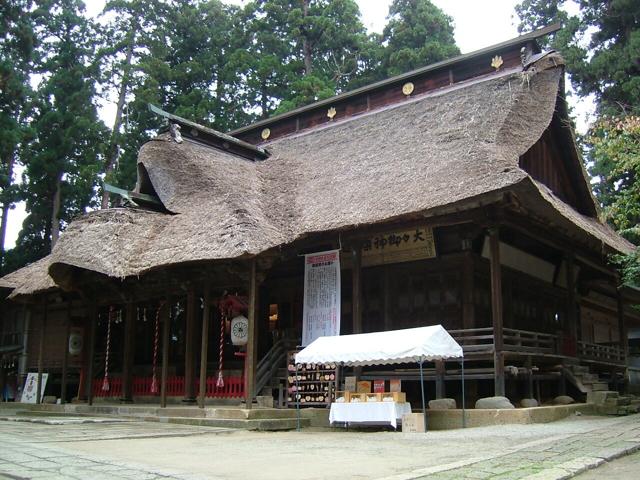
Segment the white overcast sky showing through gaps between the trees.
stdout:
[[[246,0],[226,0],[242,4]],[[371,32],[382,32],[391,0],[356,0],[362,13],[362,22]],[[455,39],[462,53],[479,50],[518,36],[515,6],[517,0],[432,0],[453,19]],[[97,16],[104,7],[104,0],[85,0],[87,14]],[[570,100],[571,101],[571,100]],[[578,116],[578,130],[585,131],[590,102],[574,104]],[[105,105],[101,116],[107,125],[113,123],[114,108]],[[6,248],[12,248],[25,218],[24,204],[20,203],[9,214]]]

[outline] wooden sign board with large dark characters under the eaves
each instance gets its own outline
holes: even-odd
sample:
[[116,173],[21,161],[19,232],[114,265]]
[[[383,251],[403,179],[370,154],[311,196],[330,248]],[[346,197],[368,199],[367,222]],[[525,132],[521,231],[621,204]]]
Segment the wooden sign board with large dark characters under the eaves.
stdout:
[[362,266],[411,262],[436,256],[431,227],[416,227],[367,238],[362,245]]

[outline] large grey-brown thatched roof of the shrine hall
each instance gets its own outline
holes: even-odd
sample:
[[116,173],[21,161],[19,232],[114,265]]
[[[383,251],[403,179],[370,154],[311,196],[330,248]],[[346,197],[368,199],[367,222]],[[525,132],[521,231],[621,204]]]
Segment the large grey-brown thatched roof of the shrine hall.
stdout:
[[281,137],[264,145],[264,161],[162,135],[140,151],[138,188],[152,187],[170,213],[111,209],[72,222],[51,273],[79,267],[127,277],[256,255],[314,232],[439,214],[506,190],[528,195],[556,223],[628,251],[611,229],[519,167],[554,115],[563,75],[554,65],[476,78]]

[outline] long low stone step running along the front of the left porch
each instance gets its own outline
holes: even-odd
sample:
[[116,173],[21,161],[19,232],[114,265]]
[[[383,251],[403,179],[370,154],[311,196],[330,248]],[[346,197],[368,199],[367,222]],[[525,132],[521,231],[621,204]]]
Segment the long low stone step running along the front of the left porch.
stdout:
[[132,421],[173,423],[204,427],[242,430],[293,430],[298,426],[308,427],[311,420],[300,418],[297,412],[276,408],[213,407],[204,409],[194,406],[160,408],[153,405],[16,405],[16,416],[67,416],[67,417],[117,417]]

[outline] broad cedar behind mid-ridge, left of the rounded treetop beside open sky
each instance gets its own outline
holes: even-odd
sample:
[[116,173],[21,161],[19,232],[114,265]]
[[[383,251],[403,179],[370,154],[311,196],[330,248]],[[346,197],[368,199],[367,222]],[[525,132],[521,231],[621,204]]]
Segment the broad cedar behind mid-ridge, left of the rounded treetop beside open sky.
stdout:
[[244,14],[249,102],[262,117],[344,91],[372,55],[353,0],[256,0]]

